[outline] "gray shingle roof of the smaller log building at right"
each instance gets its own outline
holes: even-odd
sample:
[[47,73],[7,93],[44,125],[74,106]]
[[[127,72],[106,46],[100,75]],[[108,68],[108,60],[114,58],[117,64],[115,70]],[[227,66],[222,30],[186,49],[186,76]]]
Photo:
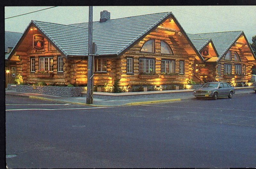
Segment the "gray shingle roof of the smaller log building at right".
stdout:
[[225,52],[231,47],[231,45],[237,40],[237,38],[242,33],[243,31],[231,31],[231,32],[213,32],[213,33],[194,34],[194,35],[188,34],[188,36],[193,43],[200,43],[205,39],[212,39],[212,42],[219,54],[218,57],[221,57],[223,54],[225,54]]

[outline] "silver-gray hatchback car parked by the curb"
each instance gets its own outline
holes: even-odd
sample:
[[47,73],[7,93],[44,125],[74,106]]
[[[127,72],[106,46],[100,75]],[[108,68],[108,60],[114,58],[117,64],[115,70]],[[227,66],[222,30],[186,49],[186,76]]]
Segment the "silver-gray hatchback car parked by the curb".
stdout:
[[201,88],[194,90],[194,96],[196,98],[212,97],[213,100],[222,96],[232,98],[233,94],[235,94],[235,88],[226,82],[208,82]]

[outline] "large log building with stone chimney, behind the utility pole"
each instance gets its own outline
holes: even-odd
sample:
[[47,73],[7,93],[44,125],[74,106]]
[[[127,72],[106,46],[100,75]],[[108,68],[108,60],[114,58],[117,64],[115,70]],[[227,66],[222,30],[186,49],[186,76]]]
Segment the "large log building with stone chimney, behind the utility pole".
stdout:
[[[102,11],[100,21],[93,22],[92,41],[98,46],[94,85],[112,86],[116,79],[124,87],[187,84],[199,77],[196,65],[207,59],[172,12],[110,19],[110,12]],[[208,57],[218,58],[220,52],[213,42],[207,42]],[[32,20],[9,60],[17,63],[24,83],[86,86],[87,57],[88,23],[61,25]],[[248,77],[250,68],[247,65]]]

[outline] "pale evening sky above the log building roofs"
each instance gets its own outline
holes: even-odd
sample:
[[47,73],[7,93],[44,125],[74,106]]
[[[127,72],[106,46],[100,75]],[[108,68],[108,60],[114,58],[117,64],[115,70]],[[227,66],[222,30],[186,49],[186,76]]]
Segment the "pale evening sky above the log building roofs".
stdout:
[[[49,7],[5,6],[4,18]],[[110,19],[172,12],[185,32],[192,34],[243,30],[250,43],[256,35],[256,6],[93,6],[93,21],[100,20],[103,10],[110,12]],[[31,20],[68,25],[88,22],[88,18],[88,6],[57,6],[4,22],[5,31],[23,33]]]

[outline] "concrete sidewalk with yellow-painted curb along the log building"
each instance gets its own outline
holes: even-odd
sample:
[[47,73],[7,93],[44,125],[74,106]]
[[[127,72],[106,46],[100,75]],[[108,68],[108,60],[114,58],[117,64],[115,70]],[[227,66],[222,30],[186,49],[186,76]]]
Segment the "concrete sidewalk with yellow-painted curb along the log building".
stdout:
[[[254,90],[236,91],[235,95],[248,95],[254,93]],[[154,104],[154,103],[166,103],[182,100],[192,100],[195,97],[192,96],[174,96],[174,97],[158,97],[158,98],[147,98],[147,99],[129,99],[129,100],[106,100],[106,99],[93,99],[93,104],[86,104],[86,97],[61,97],[52,96],[36,93],[22,93],[16,92],[15,90],[5,90],[5,96],[19,96],[33,99],[41,99],[48,101],[55,101],[61,103],[70,104],[81,104],[91,106],[130,106],[130,105],[141,105],[141,104]]]

